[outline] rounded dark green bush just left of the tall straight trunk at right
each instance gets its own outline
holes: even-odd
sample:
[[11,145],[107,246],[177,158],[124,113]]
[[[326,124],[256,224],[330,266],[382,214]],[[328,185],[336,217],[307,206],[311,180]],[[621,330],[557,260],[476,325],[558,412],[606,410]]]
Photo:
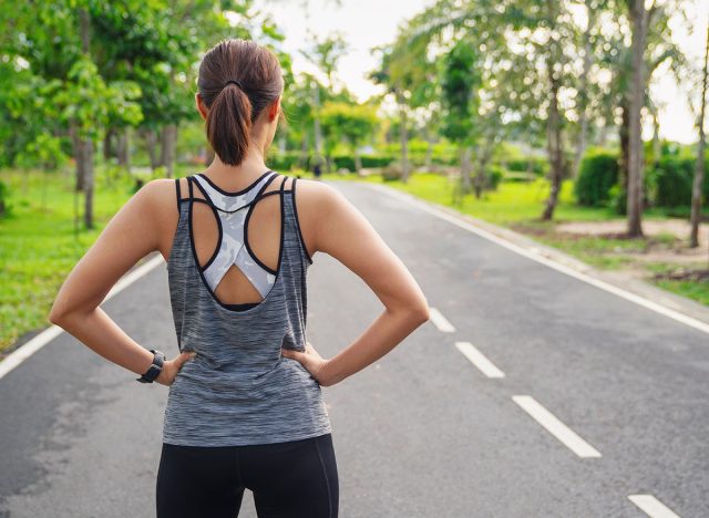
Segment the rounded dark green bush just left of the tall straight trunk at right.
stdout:
[[618,182],[618,155],[606,149],[590,149],[580,163],[574,195],[578,205],[597,207],[610,199],[610,189]]

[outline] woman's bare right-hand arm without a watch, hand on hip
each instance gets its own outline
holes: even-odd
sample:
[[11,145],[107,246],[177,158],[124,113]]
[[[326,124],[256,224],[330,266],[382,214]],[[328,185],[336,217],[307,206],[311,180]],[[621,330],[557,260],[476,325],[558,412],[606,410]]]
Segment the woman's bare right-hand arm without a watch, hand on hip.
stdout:
[[323,251],[359,276],[384,304],[384,311],[330,360],[308,343],[306,352],[284,349],[300,361],[320,385],[333,385],[376,362],[429,320],[421,288],[401,259],[387,246],[364,216],[337,189],[320,184],[322,199],[316,250]]

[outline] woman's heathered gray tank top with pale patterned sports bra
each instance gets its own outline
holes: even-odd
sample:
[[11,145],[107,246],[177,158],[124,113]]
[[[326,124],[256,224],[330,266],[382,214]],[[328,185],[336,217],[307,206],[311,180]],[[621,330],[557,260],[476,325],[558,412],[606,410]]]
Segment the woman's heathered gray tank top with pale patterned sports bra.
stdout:
[[[280,187],[264,193],[277,177]],[[295,204],[297,178],[273,170],[238,193],[222,190],[206,176],[187,177],[179,222],[167,261],[169,297],[181,352],[196,351],[169,385],[163,442],[184,446],[239,446],[315,437],[331,432],[319,383],[280,348],[305,351],[306,276],[312,263]],[[199,189],[205,199],[194,196]],[[253,208],[267,196],[280,198],[278,268],[269,269],[248,245]],[[212,207],[217,247],[197,260],[192,214],[195,203]],[[264,299],[225,304],[214,289],[232,267],[239,268]]]

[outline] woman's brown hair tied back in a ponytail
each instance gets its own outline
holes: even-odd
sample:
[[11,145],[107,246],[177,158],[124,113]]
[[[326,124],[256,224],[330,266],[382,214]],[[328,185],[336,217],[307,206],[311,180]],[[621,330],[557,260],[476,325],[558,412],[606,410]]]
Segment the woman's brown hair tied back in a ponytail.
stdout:
[[[282,94],[278,58],[251,40],[222,40],[203,58],[197,87],[208,108],[207,139],[222,162],[239,165],[250,143],[253,123]],[[280,116],[282,120],[282,110]]]

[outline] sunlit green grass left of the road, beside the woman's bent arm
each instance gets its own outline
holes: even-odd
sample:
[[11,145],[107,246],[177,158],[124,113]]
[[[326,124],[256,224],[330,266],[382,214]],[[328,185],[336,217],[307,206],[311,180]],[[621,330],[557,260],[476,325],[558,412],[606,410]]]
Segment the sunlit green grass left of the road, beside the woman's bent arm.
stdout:
[[96,167],[95,228],[86,230],[81,194],[74,226],[73,176],[73,170],[0,172],[12,206],[11,216],[0,218],[0,352],[24,333],[50,325],[49,311],[62,282],[132,196],[130,177],[109,180],[106,169]]

